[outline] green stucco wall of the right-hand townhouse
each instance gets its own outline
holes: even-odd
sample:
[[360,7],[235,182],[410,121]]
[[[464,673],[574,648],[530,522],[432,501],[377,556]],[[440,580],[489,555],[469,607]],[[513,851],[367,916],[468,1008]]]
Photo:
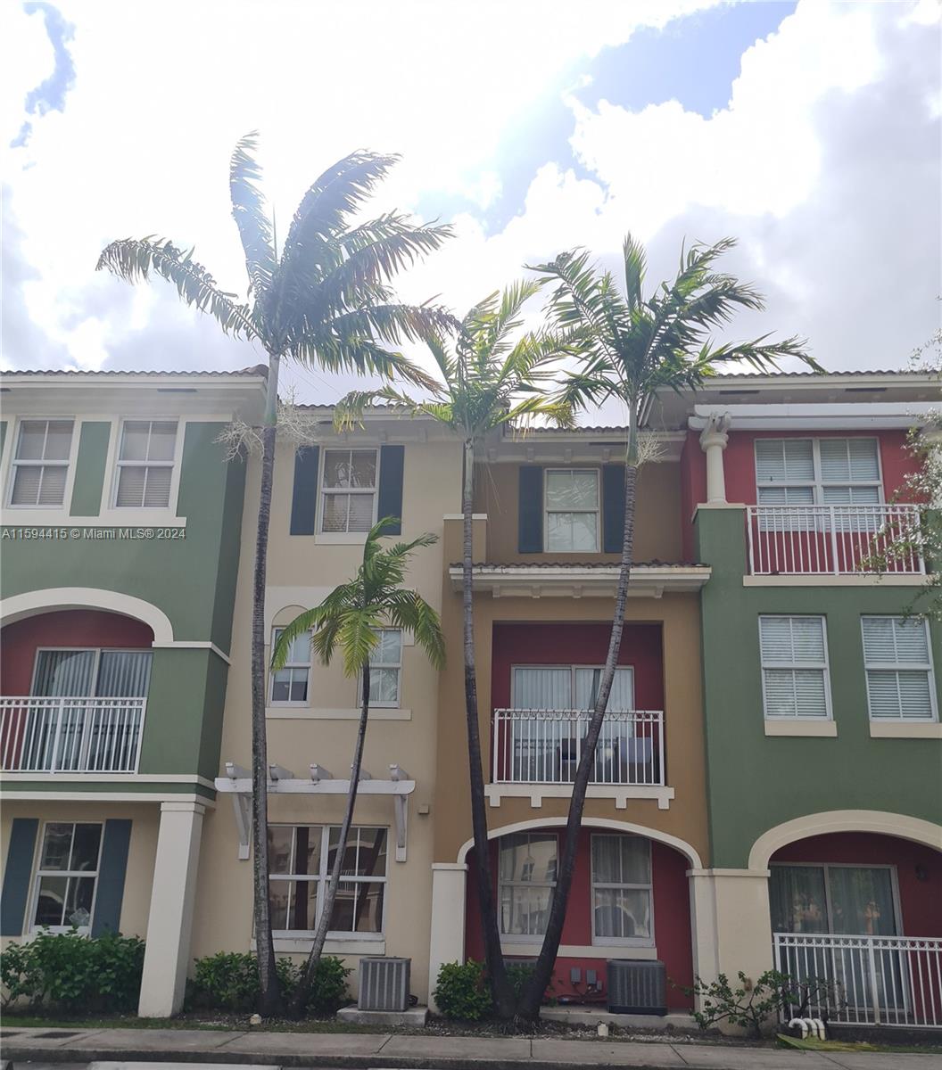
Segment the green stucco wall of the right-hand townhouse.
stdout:
[[[713,568],[701,600],[711,865],[745,868],[764,831],[827,810],[882,810],[942,822],[942,740],[869,735],[861,615],[901,613],[914,588],[744,587],[743,511],[700,509],[696,532],[697,560]],[[836,737],[764,734],[761,613],[826,617]],[[938,625],[931,642],[938,694]]]

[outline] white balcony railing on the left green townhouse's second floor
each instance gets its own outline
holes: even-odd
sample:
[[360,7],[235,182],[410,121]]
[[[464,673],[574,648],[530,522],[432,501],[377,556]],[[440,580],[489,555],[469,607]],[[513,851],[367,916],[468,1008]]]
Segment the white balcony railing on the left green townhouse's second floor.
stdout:
[[147,699],[0,698],[4,773],[137,773]]

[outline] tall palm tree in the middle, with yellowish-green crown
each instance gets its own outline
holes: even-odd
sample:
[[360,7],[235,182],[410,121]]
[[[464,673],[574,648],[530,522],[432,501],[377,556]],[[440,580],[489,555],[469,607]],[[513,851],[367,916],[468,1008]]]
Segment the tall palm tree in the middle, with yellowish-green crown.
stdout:
[[[546,417],[560,426],[573,422],[567,401],[547,396],[556,385],[553,367],[569,355],[565,337],[545,330],[520,333],[520,311],[540,287],[533,281],[515,282],[502,293],[491,293],[475,305],[460,323],[454,352],[441,338],[426,343],[435,357],[441,382],[432,399],[415,401],[392,386],[380,391],[353,392],[337,406],[339,427],[354,424],[375,399],[404,406],[415,415],[431,416],[451,428],[464,443],[461,508],[464,516],[462,609],[465,651],[465,713],[468,723],[468,762],[471,780],[471,823],[474,832],[474,870],[484,929],[487,974],[499,1017],[514,1014],[514,995],[504,968],[497,920],[497,904],[490,873],[487,840],[487,807],[481,762],[477,720],[477,677],[474,659],[474,612],[472,603],[471,531],[474,503],[474,452],[488,432],[503,427],[526,426],[534,417]],[[432,983],[435,978],[431,979]]]

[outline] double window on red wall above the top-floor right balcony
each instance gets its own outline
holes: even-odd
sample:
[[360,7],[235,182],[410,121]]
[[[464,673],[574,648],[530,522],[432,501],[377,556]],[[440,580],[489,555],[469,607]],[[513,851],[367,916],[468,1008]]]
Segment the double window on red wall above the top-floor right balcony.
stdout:
[[756,439],[760,505],[877,505],[876,439]]

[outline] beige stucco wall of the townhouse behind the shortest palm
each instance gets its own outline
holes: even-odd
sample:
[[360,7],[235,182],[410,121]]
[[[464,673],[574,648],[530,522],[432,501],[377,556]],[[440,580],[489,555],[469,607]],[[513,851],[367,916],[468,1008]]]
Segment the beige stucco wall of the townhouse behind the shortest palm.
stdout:
[[[402,422],[400,422],[402,423]],[[443,516],[460,508],[461,453],[444,432],[426,430],[414,423],[385,429],[389,443],[405,444],[402,534],[409,540],[423,532],[441,538]],[[427,441],[424,441],[427,439]],[[334,444],[322,442],[321,448]],[[379,438],[353,435],[344,445],[379,445]],[[291,536],[289,521],[293,487],[294,452],[279,446],[274,476],[272,523],[268,569],[268,618],[272,624],[290,621],[301,608],[319,601],[337,583],[352,577],[359,567],[361,545],[325,545],[316,536]],[[232,667],[226,697],[222,761],[250,764],[249,625],[252,574],[255,546],[255,503],[258,501],[259,467],[249,461],[242,529],[242,561],[232,629]],[[392,541],[392,540],[391,540]],[[434,607],[441,606],[443,548],[441,541],[415,552],[409,581]],[[270,638],[270,633],[269,637]],[[460,647],[458,648],[460,653]],[[389,766],[399,764],[416,782],[409,798],[407,860],[395,860],[393,799],[361,795],[354,823],[390,828],[385,903],[385,944],[368,953],[412,958],[412,991],[423,1002],[427,994],[429,915],[431,910],[431,823],[419,808],[431,806],[436,785],[436,736],[438,677],[422,651],[404,646],[400,709],[378,709],[370,718],[364,768],[375,778],[386,778]],[[317,762],[336,777],[350,767],[356,733],[356,685],[345,677],[339,661],[330,668],[315,664],[310,673],[309,705],[302,708],[270,707],[267,724],[269,761],[305,777]],[[408,714],[404,713],[408,710]],[[393,718],[408,719],[393,719]],[[344,796],[272,796],[273,823],[338,824]],[[240,861],[236,821],[231,804],[219,796],[215,812],[203,825],[200,876],[193,930],[193,956],[217,950],[246,950],[252,941],[252,861]],[[340,953],[341,946],[329,945]],[[354,966],[358,956],[345,956]],[[355,994],[356,978],[351,978]]]

